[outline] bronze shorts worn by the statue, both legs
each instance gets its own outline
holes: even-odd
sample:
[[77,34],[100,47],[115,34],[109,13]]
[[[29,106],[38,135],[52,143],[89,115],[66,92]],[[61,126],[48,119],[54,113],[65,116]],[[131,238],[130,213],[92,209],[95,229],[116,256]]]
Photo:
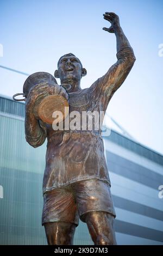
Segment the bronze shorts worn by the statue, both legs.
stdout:
[[43,195],[42,225],[64,221],[79,224],[86,212],[105,211],[116,216],[109,185],[90,179],[55,188]]

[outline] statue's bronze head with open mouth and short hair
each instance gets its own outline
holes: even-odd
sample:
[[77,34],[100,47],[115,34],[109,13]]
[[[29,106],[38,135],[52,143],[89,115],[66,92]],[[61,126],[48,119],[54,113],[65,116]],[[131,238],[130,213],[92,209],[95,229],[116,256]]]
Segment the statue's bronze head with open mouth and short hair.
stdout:
[[55,70],[55,78],[60,78],[61,82],[79,81],[86,75],[86,69],[83,68],[80,60],[72,53],[60,57],[58,61],[58,70]]

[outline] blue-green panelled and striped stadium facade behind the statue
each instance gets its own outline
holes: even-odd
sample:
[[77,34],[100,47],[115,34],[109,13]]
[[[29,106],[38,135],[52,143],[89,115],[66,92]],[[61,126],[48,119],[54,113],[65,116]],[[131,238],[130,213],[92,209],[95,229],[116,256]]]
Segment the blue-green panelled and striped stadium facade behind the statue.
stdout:
[[[46,143],[24,136],[24,104],[0,97],[0,244],[46,245],[41,226]],[[163,157],[112,131],[104,138],[118,244],[163,244]],[[3,192],[3,193],[2,193]],[[92,245],[85,223],[74,244]]]

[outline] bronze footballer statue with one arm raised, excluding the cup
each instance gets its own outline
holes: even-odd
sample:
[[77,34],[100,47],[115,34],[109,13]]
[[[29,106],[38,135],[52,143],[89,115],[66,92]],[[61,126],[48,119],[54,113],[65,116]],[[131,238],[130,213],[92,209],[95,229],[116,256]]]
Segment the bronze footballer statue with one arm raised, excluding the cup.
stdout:
[[86,222],[95,245],[116,245],[116,214],[101,129],[54,130],[52,124],[44,123],[33,113],[38,97],[45,92],[54,95],[56,90],[62,95],[67,93],[70,113],[106,111],[112,95],[129,74],[135,56],[118,16],[105,13],[104,19],[111,23],[110,28],[103,28],[104,31],[116,35],[117,62],[103,77],[91,87],[81,89],[80,80],[86,75],[86,69],[74,54],[69,53],[59,59],[58,70],[54,73],[61,84],[71,84],[69,91],[54,81],[55,85],[44,83],[32,87],[26,95],[26,140],[36,148],[47,138],[42,225],[49,245],[72,245],[79,218]]

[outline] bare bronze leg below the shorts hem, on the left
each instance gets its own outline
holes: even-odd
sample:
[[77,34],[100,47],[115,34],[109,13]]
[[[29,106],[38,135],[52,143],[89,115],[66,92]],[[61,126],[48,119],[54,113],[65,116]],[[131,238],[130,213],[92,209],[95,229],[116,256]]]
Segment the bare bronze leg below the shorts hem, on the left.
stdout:
[[68,222],[44,223],[48,245],[73,245],[76,225]]

